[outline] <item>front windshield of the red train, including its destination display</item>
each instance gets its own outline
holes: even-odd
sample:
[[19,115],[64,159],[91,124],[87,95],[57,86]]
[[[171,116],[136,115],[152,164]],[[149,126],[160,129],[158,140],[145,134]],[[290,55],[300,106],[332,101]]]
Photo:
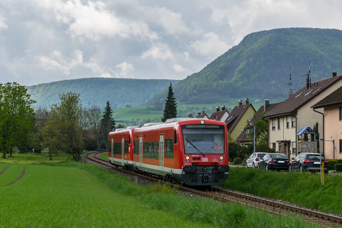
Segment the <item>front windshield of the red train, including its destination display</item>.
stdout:
[[181,128],[186,154],[224,154],[223,125],[193,124]]

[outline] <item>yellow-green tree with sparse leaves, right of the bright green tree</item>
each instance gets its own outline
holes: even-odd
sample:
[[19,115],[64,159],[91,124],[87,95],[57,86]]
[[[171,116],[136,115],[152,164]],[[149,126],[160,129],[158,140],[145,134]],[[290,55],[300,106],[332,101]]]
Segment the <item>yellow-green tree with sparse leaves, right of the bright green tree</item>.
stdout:
[[62,151],[81,160],[83,126],[80,125],[82,109],[79,94],[58,94],[61,102],[50,106],[50,118],[44,127],[43,146],[49,151]]

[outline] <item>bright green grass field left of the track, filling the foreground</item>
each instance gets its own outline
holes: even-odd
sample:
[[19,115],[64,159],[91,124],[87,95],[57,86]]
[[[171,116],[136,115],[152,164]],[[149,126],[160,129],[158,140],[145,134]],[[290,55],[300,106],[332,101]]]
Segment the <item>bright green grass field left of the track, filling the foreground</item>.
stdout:
[[[9,164],[0,163],[0,170]],[[23,164],[10,164],[8,183]],[[311,227],[244,205],[151,192],[95,165],[27,164],[19,182],[1,187],[5,227]],[[9,172],[10,173],[10,172]],[[34,209],[34,210],[32,210]]]

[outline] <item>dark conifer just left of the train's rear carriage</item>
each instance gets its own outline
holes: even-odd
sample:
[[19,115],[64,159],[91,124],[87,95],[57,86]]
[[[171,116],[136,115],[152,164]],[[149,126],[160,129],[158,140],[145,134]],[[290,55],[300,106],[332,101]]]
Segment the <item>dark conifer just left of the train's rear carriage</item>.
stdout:
[[108,150],[108,134],[115,128],[115,120],[112,118],[113,110],[110,108],[109,100],[106,103],[105,111],[101,119],[100,139]]

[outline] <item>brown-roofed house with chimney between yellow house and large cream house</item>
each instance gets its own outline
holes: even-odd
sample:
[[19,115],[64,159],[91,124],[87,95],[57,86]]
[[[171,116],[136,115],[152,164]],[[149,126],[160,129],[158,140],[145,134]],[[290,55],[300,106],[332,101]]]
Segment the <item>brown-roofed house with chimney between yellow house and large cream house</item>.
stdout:
[[[280,103],[280,102],[279,102]],[[269,112],[271,109],[276,107],[279,103],[269,104],[269,100],[265,99],[264,105],[262,105],[258,111],[255,113],[255,115],[252,117],[250,122],[254,122],[256,120],[260,120],[262,116]],[[247,124],[245,126],[245,129],[241,132],[241,134],[237,137],[236,142],[240,144],[241,146],[248,146],[250,144],[253,144],[253,136],[247,136],[246,134],[251,130],[251,126]]]

